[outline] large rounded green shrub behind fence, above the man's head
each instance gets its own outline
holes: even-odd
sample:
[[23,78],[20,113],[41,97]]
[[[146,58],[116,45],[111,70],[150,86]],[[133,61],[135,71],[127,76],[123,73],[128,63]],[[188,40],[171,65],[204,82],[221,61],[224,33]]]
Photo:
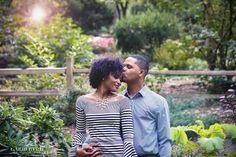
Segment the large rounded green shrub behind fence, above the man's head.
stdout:
[[154,48],[167,38],[178,37],[180,25],[174,15],[156,10],[129,15],[114,25],[117,48],[128,53],[145,53],[153,59]]

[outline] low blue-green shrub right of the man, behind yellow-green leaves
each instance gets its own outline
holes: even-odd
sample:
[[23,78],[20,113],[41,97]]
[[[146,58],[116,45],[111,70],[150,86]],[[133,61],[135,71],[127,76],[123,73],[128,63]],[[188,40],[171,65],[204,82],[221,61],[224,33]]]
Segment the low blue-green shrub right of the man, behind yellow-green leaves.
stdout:
[[[167,102],[170,109],[170,122],[171,126],[187,126],[193,125],[197,119],[204,122],[206,127],[211,124],[219,123],[222,121],[219,115],[203,113],[194,113],[194,110],[201,109],[201,107],[212,107],[216,103],[215,97],[212,96],[185,96],[187,99],[177,100],[174,97],[167,97]],[[210,104],[209,104],[210,103]],[[219,105],[219,104],[217,104]]]

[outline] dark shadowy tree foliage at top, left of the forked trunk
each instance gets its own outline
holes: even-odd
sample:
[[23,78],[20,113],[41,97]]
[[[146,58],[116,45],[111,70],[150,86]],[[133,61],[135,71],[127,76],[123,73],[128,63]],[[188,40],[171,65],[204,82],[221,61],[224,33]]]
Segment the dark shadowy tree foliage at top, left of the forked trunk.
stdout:
[[114,7],[106,5],[101,0],[68,0],[67,16],[87,33],[93,33],[104,27],[109,27],[114,18]]

